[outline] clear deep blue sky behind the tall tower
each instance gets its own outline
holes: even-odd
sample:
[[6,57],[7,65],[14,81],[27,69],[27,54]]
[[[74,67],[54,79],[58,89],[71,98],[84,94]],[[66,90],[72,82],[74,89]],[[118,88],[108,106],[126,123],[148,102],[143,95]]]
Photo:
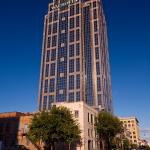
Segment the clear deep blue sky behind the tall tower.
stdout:
[[[51,0],[0,4],[0,112],[36,111],[43,17]],[[150,128],[150,1],[103,0],[114,112]]]

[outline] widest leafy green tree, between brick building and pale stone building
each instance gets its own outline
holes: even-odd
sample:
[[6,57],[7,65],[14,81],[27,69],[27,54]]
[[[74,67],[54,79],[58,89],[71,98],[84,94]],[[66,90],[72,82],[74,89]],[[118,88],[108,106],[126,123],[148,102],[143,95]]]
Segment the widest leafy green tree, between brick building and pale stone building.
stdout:
[[55,143],[70,144],[80,140],[80,129],[72,113],[65,107],[53,107],[50,112],[37,114],[30,125],[29,137],[37,145],[44,143],[45,149],[54,149]]

